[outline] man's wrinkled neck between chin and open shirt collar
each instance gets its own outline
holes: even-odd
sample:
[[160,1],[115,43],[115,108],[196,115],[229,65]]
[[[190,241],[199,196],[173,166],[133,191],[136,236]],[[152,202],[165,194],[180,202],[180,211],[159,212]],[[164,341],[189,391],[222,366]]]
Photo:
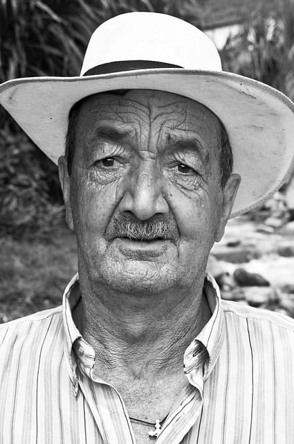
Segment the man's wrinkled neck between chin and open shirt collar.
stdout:
[[80,277],[82,309],[74,315],[98,365],[130,376],[154,375],[183,365],[187,345],[210,318],[203,281],[160,294],[124,294]]

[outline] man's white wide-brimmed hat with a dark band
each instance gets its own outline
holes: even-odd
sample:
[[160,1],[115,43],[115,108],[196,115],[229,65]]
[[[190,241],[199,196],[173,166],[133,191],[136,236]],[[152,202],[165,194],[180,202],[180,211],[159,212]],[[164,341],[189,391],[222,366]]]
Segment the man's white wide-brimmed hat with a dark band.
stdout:
[[80,99],[114,89],[156,89],[188,97],[219,117],[241,185],[232,217],[261,205],[293,171],[294,104],[281,92],[221,71],[198,28],[169,15],[129,12],[93,33],[79,77],[33,77],[0,85],[0,103],[57,163],[68,113]]

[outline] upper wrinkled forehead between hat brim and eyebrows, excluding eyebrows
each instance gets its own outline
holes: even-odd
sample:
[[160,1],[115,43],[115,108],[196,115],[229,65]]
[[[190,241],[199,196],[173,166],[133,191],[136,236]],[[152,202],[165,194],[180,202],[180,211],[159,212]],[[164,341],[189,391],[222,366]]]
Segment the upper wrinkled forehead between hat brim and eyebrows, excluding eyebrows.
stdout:
[[220,128],[217,116],[201,103],[149,89],[120,90],[86,97],[81,103],[80,116],[91,124],[99,120],[117,121],[155,131],[200,129],[213,135]]

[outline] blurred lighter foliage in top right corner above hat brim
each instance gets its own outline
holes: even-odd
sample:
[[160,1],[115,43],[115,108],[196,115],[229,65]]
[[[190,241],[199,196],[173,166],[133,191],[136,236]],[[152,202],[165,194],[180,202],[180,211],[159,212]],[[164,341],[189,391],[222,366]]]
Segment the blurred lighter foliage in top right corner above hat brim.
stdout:
[[294,0],[257,1],[221,51],[223,69],[260,80],[294,100]]

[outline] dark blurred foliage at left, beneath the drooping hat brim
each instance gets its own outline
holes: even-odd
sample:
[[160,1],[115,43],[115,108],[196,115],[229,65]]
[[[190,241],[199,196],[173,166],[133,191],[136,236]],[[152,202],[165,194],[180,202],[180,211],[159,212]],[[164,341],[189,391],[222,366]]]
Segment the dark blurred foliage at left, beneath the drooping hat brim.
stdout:
[[0,237],[44,239],[62,223],[64,207],[50,194],[55,171],[45,162],[24,133],[0,129]]

